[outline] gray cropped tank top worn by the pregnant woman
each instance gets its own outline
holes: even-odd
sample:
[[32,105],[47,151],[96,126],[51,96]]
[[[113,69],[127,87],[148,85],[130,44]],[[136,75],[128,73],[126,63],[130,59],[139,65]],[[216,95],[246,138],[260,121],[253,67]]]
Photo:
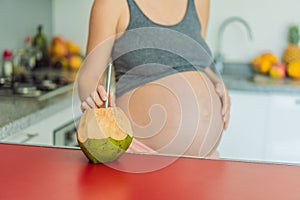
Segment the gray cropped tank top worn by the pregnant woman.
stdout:
[[211,51],[201,36],[194,0],[188,0],[184,18],[170,26],[151,21],[134,0],[127,1],[129,25],[116,39],[111,54],[117,97],[174,73],[203,71],[212,66]]

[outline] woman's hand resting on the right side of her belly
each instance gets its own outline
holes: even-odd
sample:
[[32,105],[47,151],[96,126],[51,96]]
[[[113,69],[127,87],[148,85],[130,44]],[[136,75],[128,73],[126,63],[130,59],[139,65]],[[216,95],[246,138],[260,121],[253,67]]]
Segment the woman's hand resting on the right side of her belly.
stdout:
[[216,92],[222,102],[222,116],[224,121],[224,129],[227,129],[230,118],[230,97],[224,83],[218,82],[215,85]]

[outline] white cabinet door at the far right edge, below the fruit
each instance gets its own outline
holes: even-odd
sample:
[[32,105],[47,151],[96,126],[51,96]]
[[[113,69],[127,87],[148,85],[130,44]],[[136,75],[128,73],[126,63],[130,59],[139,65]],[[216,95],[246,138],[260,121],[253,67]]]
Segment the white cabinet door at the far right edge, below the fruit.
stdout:
[[300,163],[300,96],[272,95],[266,160]]

